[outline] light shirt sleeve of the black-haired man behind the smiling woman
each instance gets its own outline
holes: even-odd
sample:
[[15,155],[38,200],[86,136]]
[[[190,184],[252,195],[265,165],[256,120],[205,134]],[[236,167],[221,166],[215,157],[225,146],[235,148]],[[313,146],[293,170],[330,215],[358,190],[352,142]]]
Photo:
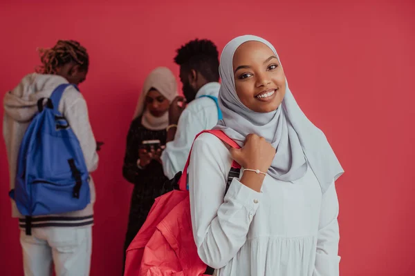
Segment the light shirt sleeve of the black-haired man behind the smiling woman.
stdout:
[[203,130],[205,130],[205,124],[201,119],[194,112],[184,110],[178,120],[174,140],[166,144],[166,148],[161,155],[163,170],[167,178],[172,179],[177,172],[183,170],[194,137]]

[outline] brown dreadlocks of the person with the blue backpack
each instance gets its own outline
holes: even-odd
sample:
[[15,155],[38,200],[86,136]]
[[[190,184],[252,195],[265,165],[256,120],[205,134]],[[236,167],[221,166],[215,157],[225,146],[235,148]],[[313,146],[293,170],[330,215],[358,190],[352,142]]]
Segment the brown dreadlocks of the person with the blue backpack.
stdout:
[[39,48],[37,51],[42,62],[36,69],[38,73],[55,75],[57,68],[71,62],[80,65],[81,70],[88,70],[88,52],[77,41],[59,40],[53,48]]

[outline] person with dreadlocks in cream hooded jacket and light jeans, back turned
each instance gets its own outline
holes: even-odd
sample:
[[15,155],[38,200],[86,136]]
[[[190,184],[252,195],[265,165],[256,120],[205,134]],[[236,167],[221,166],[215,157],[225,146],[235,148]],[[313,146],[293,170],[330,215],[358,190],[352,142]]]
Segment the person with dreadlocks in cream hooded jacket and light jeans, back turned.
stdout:
[[[24,77],[4,97],[3,136],[6,141],[10,171],[10,188],[15,186],[17,156],[30,120],[37,112],[37,101],[50,97],[62,83],[79,85],[86,78],[89,55],[77,41],[59,40],[53,48],[40,49],[42,66]],[[88,109],[82,94],[68,86],[59,102],[59,112],[80,141],[89,172],[98,166],[95,137],[89,124]],[[12,216],[19,217],[20,243],[25,275],[52,275],[52,264],[59,275],[89,275],[91,264],[91,228],[95,189],[89,181],[91,204],[84,210],[59,215],[33,217],[32,235],[26,235],[24,217],[12,201]]]

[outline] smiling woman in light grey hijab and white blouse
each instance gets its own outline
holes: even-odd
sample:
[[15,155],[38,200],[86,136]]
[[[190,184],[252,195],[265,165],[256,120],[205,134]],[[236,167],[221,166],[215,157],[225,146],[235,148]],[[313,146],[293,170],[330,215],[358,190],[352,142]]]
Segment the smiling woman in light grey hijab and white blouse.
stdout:
[[[223,120],[215,129],[241,149],[207,133],[194,141],[188,172],[199,257],[217,275],[339,275],[334,181],[343,169],[297,106],[275,48],[237,37],[219,72]],[[242,173],[227,190],[232,159]]]

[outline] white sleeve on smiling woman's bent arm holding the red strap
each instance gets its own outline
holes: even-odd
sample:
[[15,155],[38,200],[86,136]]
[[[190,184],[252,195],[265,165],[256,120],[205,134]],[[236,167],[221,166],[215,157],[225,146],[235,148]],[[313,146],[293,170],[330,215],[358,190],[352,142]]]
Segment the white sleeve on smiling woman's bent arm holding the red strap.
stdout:
[[232,160],[219,146],[196,139],[188,170],[194,240],[199,257],[212,268],[228,264],[245,244],[262,196],[236,178],[225,196],[230,168],[225,162]]

